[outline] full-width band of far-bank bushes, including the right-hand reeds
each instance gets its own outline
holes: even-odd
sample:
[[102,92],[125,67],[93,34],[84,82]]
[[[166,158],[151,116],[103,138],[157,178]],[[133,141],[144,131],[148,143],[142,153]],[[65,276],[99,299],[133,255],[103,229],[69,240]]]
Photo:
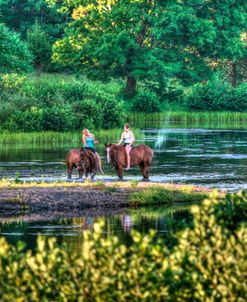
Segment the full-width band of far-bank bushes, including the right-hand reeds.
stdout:
[[[122,83],[92,82],[66,75],[20,76],[5,74],[0,79],[0,125],[11,131],[72,131],[86,128],[117,128],[128,121],[131,126],[161,126],[181,122],[183,126],[218,127],[227,122],[242,127],[246,116],[237,113],[170,112],[175,110],[245,111],[246,84],[236,89],[218,78],[180,92],[179,97],[162,101],[155,92],[141,89],[132,99],[122,98]],[[166,113],[149,112],[168,111]],[[128,113],[129,111],[134,113]],[[138,112],[140,112],[138,114]],[[144,112],[145,114],[141,114]]]

